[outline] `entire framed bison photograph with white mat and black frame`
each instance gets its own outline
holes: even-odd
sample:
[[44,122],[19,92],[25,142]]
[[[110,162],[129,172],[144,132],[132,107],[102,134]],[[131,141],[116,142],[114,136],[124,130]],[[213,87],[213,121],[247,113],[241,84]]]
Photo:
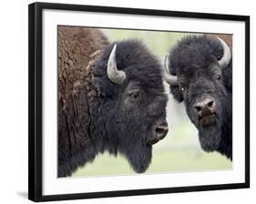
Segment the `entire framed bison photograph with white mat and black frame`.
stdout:
[[28,51],[29,199],[250,187],[249,16],[35,3]]

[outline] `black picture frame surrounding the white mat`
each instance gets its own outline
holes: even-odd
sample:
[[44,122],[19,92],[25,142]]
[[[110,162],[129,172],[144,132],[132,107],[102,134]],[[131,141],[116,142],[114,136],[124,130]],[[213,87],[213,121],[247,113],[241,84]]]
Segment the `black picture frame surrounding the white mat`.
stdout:
[[[250,187],[250,16],[220,15],[167,10],[148,10],[124,7],[93,5],[67,5],[34,3],[28,6],[28,199],[49,201],[63,199],[91,199],[134,196],[188,191],[243,189]],[[91,11],[128,15],[174,16],[198,19],[230,20],[245,23],[245,182],[221,185],[192,186],[179,188],[136,189],[93,193],[77,193],[44,196],[42,194],[42,12],[44,9],[68,11]]]

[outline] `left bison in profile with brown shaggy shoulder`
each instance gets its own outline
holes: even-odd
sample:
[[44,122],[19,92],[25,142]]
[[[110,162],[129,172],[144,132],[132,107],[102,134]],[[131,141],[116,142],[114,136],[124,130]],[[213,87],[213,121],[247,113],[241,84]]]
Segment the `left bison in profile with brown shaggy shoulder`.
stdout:
[[138,173],[168,132],[159,60],[136,40],[58,27],[58,177],[108,151]]

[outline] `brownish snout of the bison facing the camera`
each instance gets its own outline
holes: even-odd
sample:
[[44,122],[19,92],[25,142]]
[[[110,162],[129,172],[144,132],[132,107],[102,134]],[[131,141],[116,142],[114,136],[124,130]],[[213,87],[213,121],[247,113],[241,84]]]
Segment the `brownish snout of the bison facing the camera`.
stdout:
[[202,97],[194,105],[194,111],[199,118],[215,115],[216,102],[213,97]]

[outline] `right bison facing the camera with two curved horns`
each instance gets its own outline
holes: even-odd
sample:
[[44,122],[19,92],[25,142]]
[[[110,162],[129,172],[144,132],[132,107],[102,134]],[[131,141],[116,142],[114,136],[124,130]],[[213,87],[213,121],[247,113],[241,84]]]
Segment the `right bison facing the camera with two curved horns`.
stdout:
[[[223,39],[230,45],[231,36]],[[169,50],[165,67],[170,92],[179,102],[184,101],[199,130],[201,148],[232,159],[230,47],[219,36],[186,36]]]

